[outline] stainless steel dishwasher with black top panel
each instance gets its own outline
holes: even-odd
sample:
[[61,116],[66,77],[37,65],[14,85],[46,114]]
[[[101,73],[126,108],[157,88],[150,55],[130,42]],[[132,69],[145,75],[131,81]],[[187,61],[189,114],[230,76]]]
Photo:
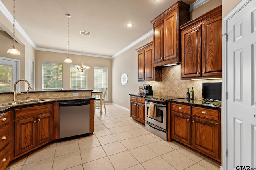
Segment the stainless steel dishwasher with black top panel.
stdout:
[[60,102],[60,139],[90,133],[90,100]]

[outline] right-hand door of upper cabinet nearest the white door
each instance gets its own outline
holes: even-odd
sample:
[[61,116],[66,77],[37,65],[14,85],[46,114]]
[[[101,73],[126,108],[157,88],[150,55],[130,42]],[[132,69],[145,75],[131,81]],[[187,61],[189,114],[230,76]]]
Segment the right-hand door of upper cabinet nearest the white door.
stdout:
[[202,25],[202,77],[221,77],[222,20],[221,16]]

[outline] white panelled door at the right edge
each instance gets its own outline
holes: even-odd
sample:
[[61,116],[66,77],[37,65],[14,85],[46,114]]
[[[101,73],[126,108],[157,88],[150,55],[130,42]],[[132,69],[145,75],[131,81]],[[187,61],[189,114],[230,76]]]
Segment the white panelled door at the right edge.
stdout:
[[256,0],[242,3],[225,23],[228,170],[256,168]]

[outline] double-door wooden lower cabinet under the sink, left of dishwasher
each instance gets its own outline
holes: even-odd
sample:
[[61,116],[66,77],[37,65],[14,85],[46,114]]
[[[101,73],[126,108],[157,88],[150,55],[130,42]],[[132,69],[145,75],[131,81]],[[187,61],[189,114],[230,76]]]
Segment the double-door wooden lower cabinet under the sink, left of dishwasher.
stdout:
[[14,158],[51,140],[52,104],[14,109]]

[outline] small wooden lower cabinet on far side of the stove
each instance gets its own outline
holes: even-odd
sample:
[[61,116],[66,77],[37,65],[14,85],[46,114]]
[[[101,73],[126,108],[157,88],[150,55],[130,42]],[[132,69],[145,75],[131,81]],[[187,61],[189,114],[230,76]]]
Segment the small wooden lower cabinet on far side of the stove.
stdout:
[[141,97],[130,97],[130,116],[145,124],[145,99]]

